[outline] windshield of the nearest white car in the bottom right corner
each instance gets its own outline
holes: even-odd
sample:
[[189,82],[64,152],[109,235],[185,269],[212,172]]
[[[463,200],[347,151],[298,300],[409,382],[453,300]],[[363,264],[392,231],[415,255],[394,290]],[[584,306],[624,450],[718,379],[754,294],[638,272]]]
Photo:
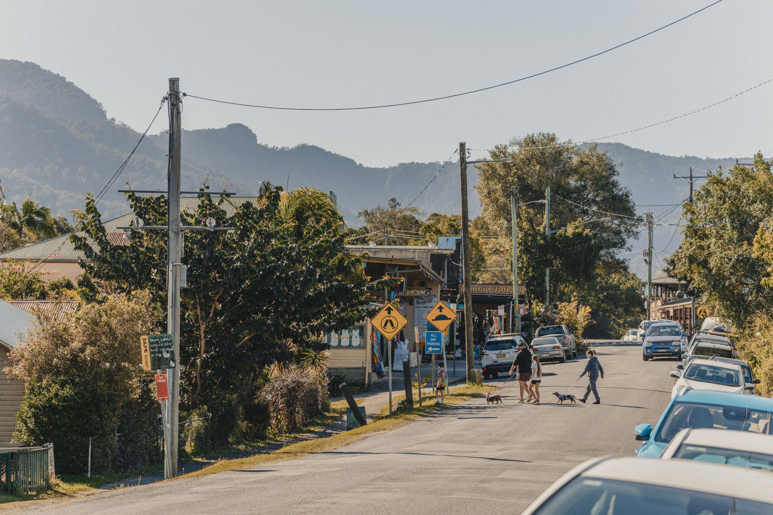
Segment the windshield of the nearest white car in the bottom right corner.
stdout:
[[[773,504],[713,493],[577,476],[558,490],[535,515],[737,515],[771,513]],[[741,510],[739,510],[739,507]]]

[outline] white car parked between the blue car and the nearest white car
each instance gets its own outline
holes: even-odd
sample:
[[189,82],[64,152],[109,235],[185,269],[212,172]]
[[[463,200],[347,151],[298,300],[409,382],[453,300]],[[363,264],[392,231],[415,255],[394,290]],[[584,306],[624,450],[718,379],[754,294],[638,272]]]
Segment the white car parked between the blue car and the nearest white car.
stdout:
[[773,472],[773,438],[750,432],[684,428],[661,459],[692,459]]

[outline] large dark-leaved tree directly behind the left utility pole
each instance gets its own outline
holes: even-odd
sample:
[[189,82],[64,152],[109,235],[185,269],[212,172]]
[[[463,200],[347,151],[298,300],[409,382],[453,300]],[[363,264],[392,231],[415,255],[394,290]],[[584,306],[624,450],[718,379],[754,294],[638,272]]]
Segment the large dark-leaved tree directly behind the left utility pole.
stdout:
[[[257,206],[236,206],[230,217],[223,209],[229,200],[200,197],[196,211],[183,214],[183,225],[213,217],[235,229],[185,238],[189,287],[182,290],[181,303],[181,396],[190,408],[214,408],[244,373],[290,360],[288,341],[302,345],[363,319],[366,292],[390,281],[369,283],[353,273],[362,263],[346,251],[339,225],[300,217],[301,225],[281,210],[280,189],[268,189]],[[165,197],[128,198],[145,224],[166,225]],[[166,234],[135,231],[130,244],[113,245],[93,197],[87,197],[86,213],[87,236],[71,236],[90,261],[81,266],[114,291],[149,286],[160,310],[166,297]]]

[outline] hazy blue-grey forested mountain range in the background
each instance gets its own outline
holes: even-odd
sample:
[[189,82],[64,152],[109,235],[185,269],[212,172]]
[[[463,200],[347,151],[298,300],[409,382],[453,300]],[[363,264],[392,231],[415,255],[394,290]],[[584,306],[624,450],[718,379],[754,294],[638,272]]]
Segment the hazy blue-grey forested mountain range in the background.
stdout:
[[[100,193],[140,136],[107,118],[96,99],[65,77],[36,63],[0,60],[0,186],[8,190],[7,200],[19,203],[31,196],[55,215],[82,209],[86,193]],[[116,191],[126,182],[133,189],[165,189],[167,139],[161,131],[139,145],[100,201],[104,219],[128,211],[124,196]],[[265,179],[290,188],[312,186],[334,192],[346,223],[353,226],[362,221],[356,217],[359,210],[385,206],[392,197],[403,206],[413,202],[427,214],[459,213],[457,162],[444,167],[441,162],[403,162],[376,168],[315,145],[278,148],[258,139],[243,124],[183,131],[183,189],[198,189],[206,181],[214,190],[227,188],[249,196]],[[640,211],[656,215],[688,196],[687,183],[673,179],[674,173],[686,175],[690,166],[693,171],[727,168],[735,162],[662,155],[621,143],[600,143],[598,148],[621,163],[620,181],[631,189]],[[470,173],[470,180],[475,185],[475,173]],[[480,213],[478,196],[474,188],[469,191],[470,213],[475,216]],[[670,234],[669,227],[659,227],[656,247]],[[679,240],[680,235],[673,241]],[[637,266],[634,269],[638,271]]]

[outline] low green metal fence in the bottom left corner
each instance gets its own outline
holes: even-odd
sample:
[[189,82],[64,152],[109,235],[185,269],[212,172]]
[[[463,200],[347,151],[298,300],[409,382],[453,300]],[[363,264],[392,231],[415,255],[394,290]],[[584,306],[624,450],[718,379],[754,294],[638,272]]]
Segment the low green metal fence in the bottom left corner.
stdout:
[[53,445],[0,449],[0,488],[4,492],[45,490],[53,475]]

